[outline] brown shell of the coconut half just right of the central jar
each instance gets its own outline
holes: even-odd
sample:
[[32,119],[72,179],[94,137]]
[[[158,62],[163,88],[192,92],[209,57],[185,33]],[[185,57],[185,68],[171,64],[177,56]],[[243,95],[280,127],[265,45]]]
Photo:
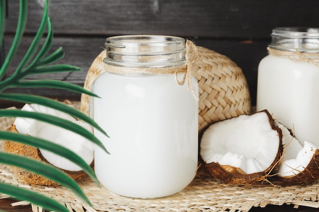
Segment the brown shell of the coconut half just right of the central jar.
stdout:
[[[201,158],[200,154],[198,154],[199,161],[202,163],[202,165],[204,166],[206,171],[209,174],[211,174],[211,176],[223,181],[224,183],[230,184],[230,185],[254,185],[254,184],[269,182],[268,175],[270,175],[272,170],[274,169],[274,167],[276,167],[278,165],[278,163],[281,159],[282,153],[283,153],[282,132],[281,132],[281,129],[275,125],[275,120],[273,119],[272,115],[267,110],[263,110],[260,112],[265,112],[268,115],[271,128],[273,130],[277,131],[278,137],[279,137],[278,153],[277,153],[276,157],[274,158],[274,161],[272,162],[272,164],[266,170],[264,170],[262,172],[246,174],[240,168],[236,168],[236,167],[232,167],[232,166],[228,166],[228,165],[220,165],[219,163],[215,163],[215,162],[206,163]],[[223,122],[223,120],[221,120],[219,122]],[[213,124],[215,124],[215,123],[212,123],[210,125],[213,125]],[[209,126],[207,126],[207,128]],[[207,128],[205,128],[205,130]],[[203,133],[205,132],[205,130],[203,130],[203,132],[199,136],[199,143],[201,141],[201,137],[202,137]],[[199,147],[199,149],[200,149],[200,147]]]

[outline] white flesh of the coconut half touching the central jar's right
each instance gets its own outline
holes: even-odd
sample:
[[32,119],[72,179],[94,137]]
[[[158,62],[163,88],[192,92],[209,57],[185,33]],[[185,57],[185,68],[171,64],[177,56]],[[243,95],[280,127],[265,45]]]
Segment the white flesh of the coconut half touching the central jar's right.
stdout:
[[212,124],[202,135],[200,155],[207,164],[215,162],[251,174],[273,164],[280,142],[268,114],[258,112]]

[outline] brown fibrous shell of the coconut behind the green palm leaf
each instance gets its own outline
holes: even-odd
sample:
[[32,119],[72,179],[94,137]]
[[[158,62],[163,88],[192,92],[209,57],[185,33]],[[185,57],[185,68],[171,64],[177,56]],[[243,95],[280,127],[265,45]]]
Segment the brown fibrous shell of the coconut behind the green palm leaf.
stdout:
[[[18,133],[15,125],[12,125],[10,128],[7,129],[7,131],[10,132],[16,132]],[[42,161],[43,163],[50,164],[41,154],[41,151],[30,145],[26,145],[24,143],[19,143],[15,141],[5,141],[4,150],[7,153],[17,154],[20,156],[29,157],[38,161]],[[52,164],[51,164],[52,165]],[[53,165],[52,165],[53,166]],[[94,167],[94,161],[90,165],[92,168]],[[58,169],[62,170],[66,174],[68,174],[70,177],[72,177],[75,180],[81,180],[83,177],[85,177],[87,174],[84,171],[69,171],[65,169],[61,169],[57,167]],[[55,186],[57,183],[55,181],[52,181],[50,179],[47,179],[44,176],[41,176],[39,174],[35,174],[31,171],[12,166],[11,167],[14,174],[17,175],[17,177],[25,182],[32,185],[40,185],[40,186]]]

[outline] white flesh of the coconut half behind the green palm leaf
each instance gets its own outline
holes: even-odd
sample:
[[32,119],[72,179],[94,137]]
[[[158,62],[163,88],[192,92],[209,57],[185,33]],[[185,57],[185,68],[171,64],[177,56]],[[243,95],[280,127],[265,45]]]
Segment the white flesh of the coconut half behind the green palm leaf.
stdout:
[[[90,132],[93,132],[93,129],[89,124],[83,123],[80,120],[77,120],[74,117],[70,116],[69,114],[63,113],[52,108],[36,104],[25,104],[21,110],[41,112],[64,118],[70,120],[73,123],[78,124],[79,126],[84,127]],[[80,156],[87,164],[90,165],[93,162],[94,144],[90,142],[88,139],[76,133],[31,118],[17,117],[15,119],[14,125],[16,126],[16,129],[19,133],[27,133],[31,136],[39,137],[54,142],[56,144],[60,144],[70,149],[78,156]],[[45,149],[40,149],[40,152],[43,158],[47,160],[47,162],[51,163],[56,167],[68,171],[82,170],[81,167],[69,161],[68,159],[65,159]]]

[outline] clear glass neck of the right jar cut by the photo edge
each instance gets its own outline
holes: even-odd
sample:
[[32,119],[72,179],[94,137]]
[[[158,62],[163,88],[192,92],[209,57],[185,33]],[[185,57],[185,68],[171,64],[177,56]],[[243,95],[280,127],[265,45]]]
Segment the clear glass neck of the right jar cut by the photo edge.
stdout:
[[307,53],[319,53],[319,28],[279,27],[271,34],[270,48],[281,51],[296,50]]

